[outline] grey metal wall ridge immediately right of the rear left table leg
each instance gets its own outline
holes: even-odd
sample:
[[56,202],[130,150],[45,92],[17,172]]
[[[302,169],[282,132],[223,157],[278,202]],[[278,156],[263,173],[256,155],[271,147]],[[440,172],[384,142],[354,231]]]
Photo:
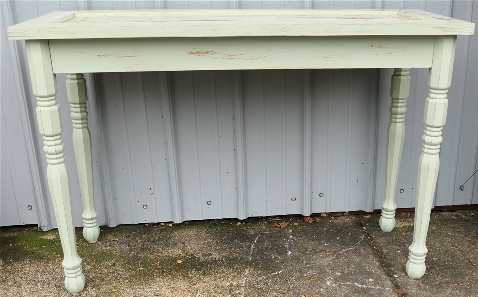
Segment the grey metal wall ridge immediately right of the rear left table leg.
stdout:
[[[88,111],[89,117],[91,117],[93,123],[97,123],[96,125],[92,125],[92,127],[96,127],[96,133],[92,134],[92,144],[96,143],[99,147],[98,159],[101,173],[100,180],[102,181],[101,186],[103,189],[103,197],[106,202],[106,216],[108,220],[108,227],[114,227],[118,225],[116,218],[117,209],[112,195],[113,188],[111,185],[111,178],[109,174],[108,153],[106,150],[106,133],[103,130],[105,125],[103,124],[102,117],[100,116],[101,110],[104,110],[104,107],[102,107],[101,100],[97,100],[99,96],[96,88],[96,80],[93,78],[93,74],[86,73],[85,77],[88,77],[88,79],[86,80],[86,91],[88,100],[90,101],[90,109]],[[94,108],[96,104],[98,105],[98,107]],[[98,112],[96,112],[97,110]]]

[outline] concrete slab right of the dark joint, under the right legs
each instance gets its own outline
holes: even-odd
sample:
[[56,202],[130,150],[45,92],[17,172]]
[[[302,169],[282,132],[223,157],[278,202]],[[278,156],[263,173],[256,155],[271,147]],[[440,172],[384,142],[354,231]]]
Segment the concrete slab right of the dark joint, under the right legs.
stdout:
[[[478,215],[474,210],[431,213],[427,235],[427,271],[420,280],[406,276],[412,243],[413,213],[397,213],[390,233],[378,226],[379,215],[359,216],[370,233],[384,269],[404,296],[478,296]],[[473,213],[474,215],[470,215]]]

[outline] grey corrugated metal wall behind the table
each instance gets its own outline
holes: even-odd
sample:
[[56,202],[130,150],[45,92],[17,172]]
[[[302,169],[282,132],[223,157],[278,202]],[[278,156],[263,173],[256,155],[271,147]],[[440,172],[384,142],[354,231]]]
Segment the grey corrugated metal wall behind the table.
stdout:
[[[475,23],[478,15],[473,0],[2,1],[0,225],[56,226],[24,43],[8,42],[5,28],[54,10],[211,8],[418,8]],[[458,38],[437,205],[478,203],[478,178],[468,181],[464,191],[457,190],[477,164],[477,53],[477,35]],[[415,205],[427,73],[411,71],[398,182],[404,193],[397,190],[398,207]],[[99,224],[379,209],[391,74],[274,70],[87,75]],[[57,79],[75,224],[81,226],[66,76]]]

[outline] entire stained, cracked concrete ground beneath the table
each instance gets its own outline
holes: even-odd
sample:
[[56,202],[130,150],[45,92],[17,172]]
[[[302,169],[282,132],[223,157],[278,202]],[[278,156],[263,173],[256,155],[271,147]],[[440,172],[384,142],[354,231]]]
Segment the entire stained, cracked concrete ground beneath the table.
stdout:
[[[405,273],[413,213],[397,212],[391,233],[380,230],[378,214],[102,227],[95,244],[78,228],[87,283],[77,296],[477,296],[471,212],[432,213],[427,273],[418,281]],[[283,221],[286,228],[273,226]],[[0,296],[71,296],[62,258],[56,230],[0,228]]]

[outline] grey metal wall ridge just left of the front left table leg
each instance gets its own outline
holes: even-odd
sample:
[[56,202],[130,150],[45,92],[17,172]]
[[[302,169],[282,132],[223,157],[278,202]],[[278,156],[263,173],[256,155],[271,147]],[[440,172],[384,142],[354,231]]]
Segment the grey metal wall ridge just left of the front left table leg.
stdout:
[[[14,11],[11,5],[11,0],[1,1],[1,5],[3,6],[3,17],[6,27],[14,25]],[[19,41],[17,40],[9,41],[13,64],[13,77],[15,79],[17,94],[22,96],[18,102],[21,110],[23,133],[27,144],[28,161],[35,191],[35,201],[37,202],[38,217],[40,219],[39,227],[44,231],[48,231],[52,226],[48,210],[48,195],[45,183],[47,179],[43,172],[43,156],[40,152],[43,151],[43,149],[38,147],[36,140],[37,130],[34,116],[35,108],[31,105],[32,100],[30,98],[30,91],[25,89],[25,86],[28,86],[28,69],[26,69],[26,65],[23,62],[25,58],[23,56],[23,51],[18,48],[18,44]]]

